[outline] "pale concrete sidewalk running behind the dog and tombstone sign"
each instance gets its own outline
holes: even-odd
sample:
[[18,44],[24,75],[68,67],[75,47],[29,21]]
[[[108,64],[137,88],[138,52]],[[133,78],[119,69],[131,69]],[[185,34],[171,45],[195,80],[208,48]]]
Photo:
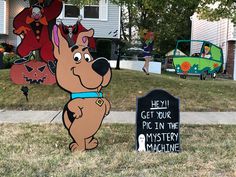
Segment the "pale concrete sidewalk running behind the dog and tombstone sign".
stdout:
[[[0,110],[0,123],[62,123],[61,111],[5,111]],[[112,111],[104,123],[135,124],[135,112]],[[181,124],[236,125],[236,112],[181,112]]]

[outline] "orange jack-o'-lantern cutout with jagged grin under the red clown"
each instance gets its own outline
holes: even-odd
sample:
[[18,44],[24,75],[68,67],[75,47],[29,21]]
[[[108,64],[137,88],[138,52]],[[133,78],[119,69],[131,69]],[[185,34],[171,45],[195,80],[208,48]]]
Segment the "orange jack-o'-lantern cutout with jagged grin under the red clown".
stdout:
[[56,83],[56,78],[49,71],[47,64],[36,60],[14,64],[10,76],[15,84],[52,85]]

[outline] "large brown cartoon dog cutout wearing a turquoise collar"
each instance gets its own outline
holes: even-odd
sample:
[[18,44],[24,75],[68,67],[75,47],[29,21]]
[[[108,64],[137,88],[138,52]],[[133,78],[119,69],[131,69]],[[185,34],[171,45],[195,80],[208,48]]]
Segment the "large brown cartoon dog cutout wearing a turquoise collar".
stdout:
[[69,47],[58,26],[53,29],[56,78],[71,95],[64,107],[63,122],[73,139],[69,146],[72,152],[98,146],[94,135],[110,111],[101,90],[111,80],[111,68],[105,58],[95,60],[89,53],[88,38],[93,34],[93,29],[79,33],[75,45]]

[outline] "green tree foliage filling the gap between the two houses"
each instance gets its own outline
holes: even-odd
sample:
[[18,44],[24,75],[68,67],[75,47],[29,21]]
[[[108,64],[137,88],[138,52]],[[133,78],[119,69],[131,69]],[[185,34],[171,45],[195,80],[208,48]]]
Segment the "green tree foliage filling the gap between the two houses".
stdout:
[[[154,31],[156,48],[165,54],[171,50],[177,39],[189,39],[191,34],[190,16],[193,15],[200,0],[111,0],[123,9],[123,27]],[[125,31],[125,30],[124,30]],[[125,37],[124,37],[125,38]]]

